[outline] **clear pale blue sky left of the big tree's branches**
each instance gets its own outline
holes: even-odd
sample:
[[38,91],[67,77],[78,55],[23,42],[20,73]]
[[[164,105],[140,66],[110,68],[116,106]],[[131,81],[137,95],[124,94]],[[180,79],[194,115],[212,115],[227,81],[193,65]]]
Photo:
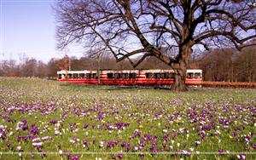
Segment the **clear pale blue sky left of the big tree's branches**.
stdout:
[[47,62],[64,54],[83,55],[79,46],[66,51],[55,49],[55,14],[49,0],[1,1],[1,58],[19,61],[25,53],[30,58]]

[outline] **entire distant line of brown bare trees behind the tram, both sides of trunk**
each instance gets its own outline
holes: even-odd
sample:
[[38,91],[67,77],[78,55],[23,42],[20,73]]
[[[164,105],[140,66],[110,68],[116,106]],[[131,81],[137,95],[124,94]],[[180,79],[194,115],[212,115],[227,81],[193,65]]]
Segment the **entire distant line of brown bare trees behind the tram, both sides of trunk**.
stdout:
[[[194,53],[189,69],[202,69],[205,81],[256,82],[256,47],[237,51],[232,48],[213,49],[200,54]],[[135,59],[139,60],[140,57]],[[55,79],[60,70],[133,70],[171,69],[156,57],[148,57],[136,68],[128,60],[116,62],[108,53],[86,54],[80,58],[63,56],[47,63],[26,57],[21,63],[3,60],[0,77],[41,77]]]

